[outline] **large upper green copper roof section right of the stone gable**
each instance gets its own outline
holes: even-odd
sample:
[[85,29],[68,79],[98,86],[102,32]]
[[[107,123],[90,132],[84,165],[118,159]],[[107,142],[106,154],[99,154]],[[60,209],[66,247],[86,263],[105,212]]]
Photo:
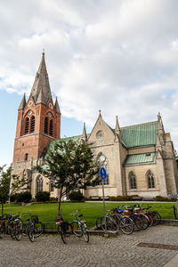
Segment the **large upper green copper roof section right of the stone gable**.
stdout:
[[121,140],[126,148],[156,145],[157,121],[121,128]]

